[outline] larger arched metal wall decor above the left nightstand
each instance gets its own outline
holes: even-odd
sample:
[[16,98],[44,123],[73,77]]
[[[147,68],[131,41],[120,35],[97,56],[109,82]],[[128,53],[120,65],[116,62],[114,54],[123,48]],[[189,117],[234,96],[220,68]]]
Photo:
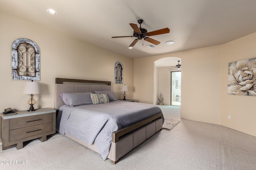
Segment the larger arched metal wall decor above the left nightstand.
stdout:
[[40,49],[30,39],[12,43],[12,80],[40,80]]

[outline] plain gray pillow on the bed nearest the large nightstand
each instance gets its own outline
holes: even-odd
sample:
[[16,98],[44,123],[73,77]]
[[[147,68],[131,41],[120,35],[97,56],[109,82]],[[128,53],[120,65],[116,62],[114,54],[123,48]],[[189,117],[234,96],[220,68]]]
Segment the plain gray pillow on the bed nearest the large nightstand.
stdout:
[[85,93],[62,93],[60,94],[63,102],[71,107],[84,104],[92,104],[92,92]]

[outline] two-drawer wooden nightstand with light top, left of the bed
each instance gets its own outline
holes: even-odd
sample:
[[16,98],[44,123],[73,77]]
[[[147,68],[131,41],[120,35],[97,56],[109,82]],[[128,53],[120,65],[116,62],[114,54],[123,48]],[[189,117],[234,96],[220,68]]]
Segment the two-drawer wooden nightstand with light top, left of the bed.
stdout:
[[23,142],[39,138],[46,141],[47,135],[56,131],[56,110],[51,108],[36,111],[17,111],[16,115],[1,113],[2,150],[23,148]]

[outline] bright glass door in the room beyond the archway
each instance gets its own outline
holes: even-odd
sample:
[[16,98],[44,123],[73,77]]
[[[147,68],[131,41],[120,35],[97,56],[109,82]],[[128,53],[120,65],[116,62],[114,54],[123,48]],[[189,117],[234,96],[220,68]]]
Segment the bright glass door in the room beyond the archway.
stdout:
[[181,71],[171,72],[171,105],[180,106],[181,102]]

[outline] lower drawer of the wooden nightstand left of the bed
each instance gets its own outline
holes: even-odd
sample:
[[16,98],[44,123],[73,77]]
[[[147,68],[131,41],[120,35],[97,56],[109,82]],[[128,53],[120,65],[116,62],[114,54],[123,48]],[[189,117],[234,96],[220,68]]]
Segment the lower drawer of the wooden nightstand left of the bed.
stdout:
[[34,125],[30,127],[23,127],[20,129],[14,129],[10,131],[9,141],[16,141],[19,139],[39,135],[50,131],[52,131],[52,122]]

